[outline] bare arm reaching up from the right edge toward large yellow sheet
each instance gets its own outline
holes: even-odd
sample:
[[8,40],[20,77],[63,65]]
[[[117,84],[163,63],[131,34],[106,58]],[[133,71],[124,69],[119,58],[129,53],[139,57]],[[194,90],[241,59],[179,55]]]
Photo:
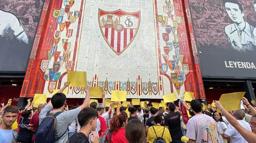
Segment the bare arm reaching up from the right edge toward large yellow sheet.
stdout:
[[228,122],[242,135],[242,137],[249,143],[254,143],[256,134],[246,130],[244,127],[242,127],[238,121],[227,112],[225,108],[221,105],[219,101],[214,101],[215,105],[218,109],[220,109],[221,113],[224,114],[225,118],[228,120]]

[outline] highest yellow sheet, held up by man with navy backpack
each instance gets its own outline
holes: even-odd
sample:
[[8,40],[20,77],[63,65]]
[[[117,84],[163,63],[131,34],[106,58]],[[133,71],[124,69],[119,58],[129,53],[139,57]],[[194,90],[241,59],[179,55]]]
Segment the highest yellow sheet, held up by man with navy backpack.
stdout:
[[67,82],[71,82],[69,86],[85,87],[87,85],[86,72],[67,71]]

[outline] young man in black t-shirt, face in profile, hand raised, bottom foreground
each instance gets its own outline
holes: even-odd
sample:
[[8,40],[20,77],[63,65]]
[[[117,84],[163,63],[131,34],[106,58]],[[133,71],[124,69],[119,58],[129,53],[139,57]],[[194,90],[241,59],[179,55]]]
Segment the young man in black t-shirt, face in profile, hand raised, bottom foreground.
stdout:
[[90,107],[83,108],[78,114],[78,123],[81,126],[80,131],[74,133],[74,135],[69,138],[69,143],[90,143],[88,139],[90,133],[93,134],[93,138],[90,136],[90,141],[92,143],[99,143],[99,137],[95,132],[97,118],[98,112],[95,109]]

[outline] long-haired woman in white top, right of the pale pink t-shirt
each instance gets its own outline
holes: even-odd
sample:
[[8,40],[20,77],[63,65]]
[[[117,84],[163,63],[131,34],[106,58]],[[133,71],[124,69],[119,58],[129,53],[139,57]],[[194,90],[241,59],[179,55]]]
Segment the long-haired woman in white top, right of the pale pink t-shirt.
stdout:
[[222,143],[227,143],[228,141],[225,138],[223,138],[223,133],[227,130],[227,124],[223,121],[221,113],[217,113],[217,111],[214,111],[213,119],[217,122],[220,130],[220,136],[219,136],[220,141]]

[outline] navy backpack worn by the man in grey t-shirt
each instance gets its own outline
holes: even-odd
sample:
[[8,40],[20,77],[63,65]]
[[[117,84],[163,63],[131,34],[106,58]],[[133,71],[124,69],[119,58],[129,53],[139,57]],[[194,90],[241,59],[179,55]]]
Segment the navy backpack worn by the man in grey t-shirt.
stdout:
[[[53,116],[50,115],[50,111],[46,113],[46,117],[43,119],[42,123],[38,126],[35,134],[35,143],[54,143],[59,140],[66,131],[56,140],[54,140],[54,128],[56,125],[56,117],[61,114],[59,111]],[[68,127],[67,127],[68,129]]]

